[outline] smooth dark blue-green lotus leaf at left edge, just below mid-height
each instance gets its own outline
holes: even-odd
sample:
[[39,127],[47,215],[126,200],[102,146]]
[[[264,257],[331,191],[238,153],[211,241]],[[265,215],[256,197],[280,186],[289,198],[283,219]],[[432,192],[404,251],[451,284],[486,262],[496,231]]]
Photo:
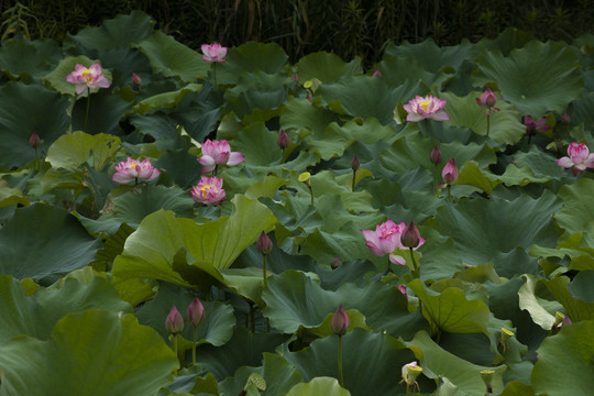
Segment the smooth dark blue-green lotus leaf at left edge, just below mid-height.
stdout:
[[0,273],[50,284],[92,262],[99,245],[68,211],[35,204],[0,229]]

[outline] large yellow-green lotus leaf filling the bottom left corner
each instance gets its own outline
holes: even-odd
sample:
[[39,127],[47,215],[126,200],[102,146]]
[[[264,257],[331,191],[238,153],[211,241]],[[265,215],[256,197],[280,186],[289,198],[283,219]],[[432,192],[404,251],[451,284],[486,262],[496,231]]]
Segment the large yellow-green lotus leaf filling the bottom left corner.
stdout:
[[132,315],[90,309],[61,319],[46,341],[6,343],[0,395],[156,395],[177,366],[161,337]]

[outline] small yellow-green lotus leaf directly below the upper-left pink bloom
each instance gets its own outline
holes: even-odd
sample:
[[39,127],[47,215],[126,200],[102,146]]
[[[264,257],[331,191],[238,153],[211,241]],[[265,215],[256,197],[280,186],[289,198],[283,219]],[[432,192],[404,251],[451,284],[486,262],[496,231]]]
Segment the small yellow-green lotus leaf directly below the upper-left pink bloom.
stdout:
[[76,172],[80,165],[88,163],[98,172],[116,158],[120,150],[120,139],[100,133],[90,135],[81,131],[62,135],[47,150],[47,161],[55,168]]

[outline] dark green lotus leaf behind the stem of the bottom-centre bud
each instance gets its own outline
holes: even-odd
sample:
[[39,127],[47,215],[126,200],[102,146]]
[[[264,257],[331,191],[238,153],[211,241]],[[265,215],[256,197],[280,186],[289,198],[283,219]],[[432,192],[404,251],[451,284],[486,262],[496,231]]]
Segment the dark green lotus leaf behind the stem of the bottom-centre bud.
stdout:
[[[318,339],[298,352],[285,350],[283,356],[297,367],[305,381],[339,376],[337,336]],[[404,392],[406,385],[398,384],[399,367],[413,360],[413,353],[404,348],[403,342],[386,333],[354,329],[342,336],[344,388],[354,396]],[[425,384],[421,388],[425,391]]]

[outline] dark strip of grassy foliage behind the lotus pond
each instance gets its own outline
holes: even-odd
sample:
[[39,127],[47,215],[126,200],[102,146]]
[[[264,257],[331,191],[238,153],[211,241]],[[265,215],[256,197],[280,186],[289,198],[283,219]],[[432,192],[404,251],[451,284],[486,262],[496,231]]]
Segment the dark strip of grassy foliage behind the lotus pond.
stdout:
[[380,59],[393,41],[432,37],[455,45],[495,37],[509,26],[536,38],[564,40],[593,30],[592,0],[0,0],[2,40],[63,40],[85,25],[142,10],[157,28],[191,48],[220,42],[276,42],[292,62],[317,51],[344,59]]

